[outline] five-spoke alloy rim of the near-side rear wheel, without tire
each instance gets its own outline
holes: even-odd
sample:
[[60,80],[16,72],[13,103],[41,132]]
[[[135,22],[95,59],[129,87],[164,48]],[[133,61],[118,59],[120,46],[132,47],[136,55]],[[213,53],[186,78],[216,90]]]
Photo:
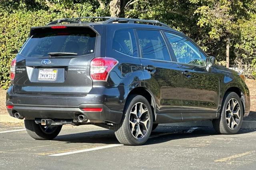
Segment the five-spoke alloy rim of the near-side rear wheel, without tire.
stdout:
[[144,103],[133,105],[129,115],[130,132],[136,139],[142,139],[148,133],[150,126],[148,108]]

